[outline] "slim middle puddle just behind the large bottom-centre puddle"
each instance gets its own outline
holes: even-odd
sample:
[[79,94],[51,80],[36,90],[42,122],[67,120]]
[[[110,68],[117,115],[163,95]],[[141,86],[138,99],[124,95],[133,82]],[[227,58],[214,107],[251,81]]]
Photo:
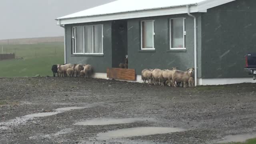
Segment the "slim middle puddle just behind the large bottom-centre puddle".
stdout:
[[126,124],[132,122],[139,122],[139,121],[153,121],[152,118],[95,118],[92,120],[86,120],[84,122],[77,122],[74,125],[109,125],[109,124]]

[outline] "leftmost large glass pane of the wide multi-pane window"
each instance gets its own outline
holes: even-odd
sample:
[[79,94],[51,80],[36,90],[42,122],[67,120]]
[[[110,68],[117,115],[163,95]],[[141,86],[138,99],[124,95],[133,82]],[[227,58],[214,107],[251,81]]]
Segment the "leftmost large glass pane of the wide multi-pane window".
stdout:
[[76,53],[84,53],[83,26],[76,27]]

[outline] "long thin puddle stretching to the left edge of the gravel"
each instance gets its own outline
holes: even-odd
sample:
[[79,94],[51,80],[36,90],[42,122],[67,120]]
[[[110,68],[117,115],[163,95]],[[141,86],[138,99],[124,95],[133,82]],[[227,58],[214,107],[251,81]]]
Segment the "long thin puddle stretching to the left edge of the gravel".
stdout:
[[7,129],[9,126],[18,126],[20,124],[24,124],[28,120],[32,120],[33,118],[44,117],[44,116],[52,116],[52,115],[56,115],[56,114],[66,112],[66,111],[69,111],[69,110],[80,110],[80,109],[84,109],[84,108],[87,108],[87,107],[57,108],[57,109],[55,109],[56,112],[41,112],[41,113],[28,114],[28,115],[25,115],[25,116],[16,117],[16,118],[14,118],[12,120],[9,120],[7,122],[0,122],[0,130],[1,129]]

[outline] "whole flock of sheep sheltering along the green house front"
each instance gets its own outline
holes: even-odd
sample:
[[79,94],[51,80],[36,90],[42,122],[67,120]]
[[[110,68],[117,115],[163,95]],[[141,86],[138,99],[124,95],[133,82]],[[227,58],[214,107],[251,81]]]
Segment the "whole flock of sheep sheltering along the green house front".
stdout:
[[[128,68],[128,57],[125,58],[125,64],[120,63],[120,68]],[[188,68],[186,72],[178,70],[177,67],[172,70],[144,69],[141,72],[141,79],[144,83],[154,85],[168,86],[194,86],[194,77],[192,73],[194,68]],[[89,78],[93,74],[93,68],[90,64],[58,64],[52,66],[53,76],[56,73],[60,77],[81,77]]]

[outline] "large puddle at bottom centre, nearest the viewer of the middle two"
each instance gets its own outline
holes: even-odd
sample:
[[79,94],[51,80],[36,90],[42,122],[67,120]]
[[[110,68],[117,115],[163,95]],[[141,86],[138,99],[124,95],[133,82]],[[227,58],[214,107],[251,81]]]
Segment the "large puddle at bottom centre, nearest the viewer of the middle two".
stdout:
[[183,128],[165,128],[165,127],[138,127],[126,128],[121,130],[112,130],[97,134],[99,139],[127,138],[133,136],[146,136],[152,134],[166,134],[172,132],[185,131]]

